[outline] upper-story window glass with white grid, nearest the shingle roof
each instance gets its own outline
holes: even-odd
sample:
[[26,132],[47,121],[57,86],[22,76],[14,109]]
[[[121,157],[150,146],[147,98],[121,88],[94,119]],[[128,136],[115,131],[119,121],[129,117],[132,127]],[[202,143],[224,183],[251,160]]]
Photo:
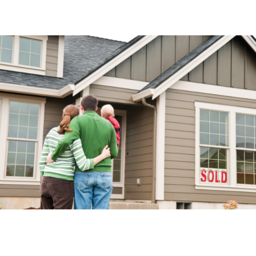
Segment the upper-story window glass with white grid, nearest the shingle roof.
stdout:
[[40,68],[41,41],[20,38],[19,65]]

